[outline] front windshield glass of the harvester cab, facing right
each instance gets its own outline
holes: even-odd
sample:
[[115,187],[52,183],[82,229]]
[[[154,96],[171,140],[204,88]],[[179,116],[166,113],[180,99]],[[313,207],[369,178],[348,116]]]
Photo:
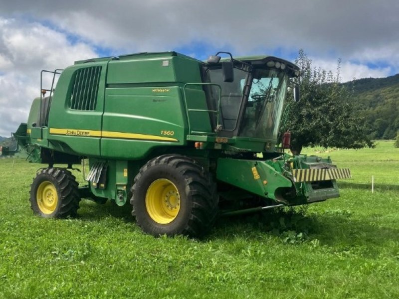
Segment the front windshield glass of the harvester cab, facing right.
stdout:
[[[245,80],[241,80],[241,89]],[[239,136],[277,140],[288,76],[274,69],[255,70]]]

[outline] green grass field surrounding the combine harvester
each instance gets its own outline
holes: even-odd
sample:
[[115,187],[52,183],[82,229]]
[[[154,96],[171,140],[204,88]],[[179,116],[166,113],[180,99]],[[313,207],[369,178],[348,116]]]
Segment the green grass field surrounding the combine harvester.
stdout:
[[40,165],[0,159],[0,298],[399,298],[399,149],[318,154],[352,169],[340,198],[224,218],[204,240],[144,235],[110,203],[33,216]]

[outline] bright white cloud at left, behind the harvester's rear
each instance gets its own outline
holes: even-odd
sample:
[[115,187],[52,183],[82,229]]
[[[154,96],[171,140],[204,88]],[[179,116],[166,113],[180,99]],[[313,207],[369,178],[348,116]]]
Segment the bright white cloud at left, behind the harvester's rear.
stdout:
[[26,122],[33,98],[40,95],[40,71],[95,57],[86,44],[35,22],[0,17],[0,136]]

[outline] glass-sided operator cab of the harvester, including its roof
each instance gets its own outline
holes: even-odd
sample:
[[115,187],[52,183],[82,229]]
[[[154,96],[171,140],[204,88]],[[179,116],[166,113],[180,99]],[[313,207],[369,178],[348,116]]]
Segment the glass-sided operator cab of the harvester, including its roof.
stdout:
[[[210,110],[217,110],[220,93],[219,115],[217,119],[211,117],[218,136],[275,143],[288,87],[295,86],[294,94],[298,96],[293,80],[299,76],[298,67],[276,57],[238,60],[230,53],[230,61],[220,62],[217,54],[203,65],[203,77],[205,82],[220,86],[209,85],[206,91]],[[230,63],[230,69],[226,63]]]

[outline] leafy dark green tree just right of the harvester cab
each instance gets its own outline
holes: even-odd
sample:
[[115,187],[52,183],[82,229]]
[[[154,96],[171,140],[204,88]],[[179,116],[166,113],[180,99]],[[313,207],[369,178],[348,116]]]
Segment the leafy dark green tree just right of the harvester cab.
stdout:
[[292,133],[291,151],[299,154],[303,147],[361,149],[373,147],[370,130],[359,113],[351,91],[340,83],[338,60],[336,75],[313,67],[305,52],[299,51],[296,64],[301,71],[300,101],[291,104],[287,129]]

